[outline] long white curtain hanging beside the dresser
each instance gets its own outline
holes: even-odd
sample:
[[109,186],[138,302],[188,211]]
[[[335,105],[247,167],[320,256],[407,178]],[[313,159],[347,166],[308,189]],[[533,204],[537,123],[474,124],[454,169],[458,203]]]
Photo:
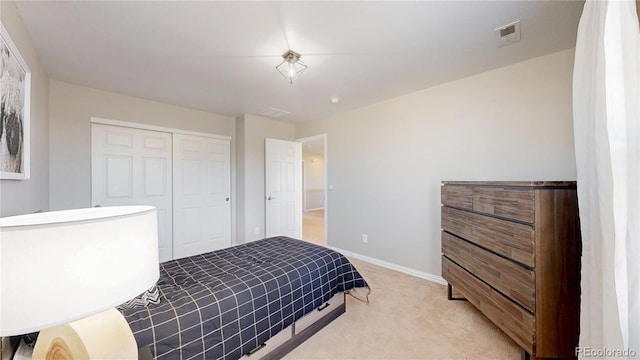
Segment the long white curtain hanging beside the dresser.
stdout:
[[635,1],[587,0],[573,74],[580,347],[605,358],[640,358],[639,88]]

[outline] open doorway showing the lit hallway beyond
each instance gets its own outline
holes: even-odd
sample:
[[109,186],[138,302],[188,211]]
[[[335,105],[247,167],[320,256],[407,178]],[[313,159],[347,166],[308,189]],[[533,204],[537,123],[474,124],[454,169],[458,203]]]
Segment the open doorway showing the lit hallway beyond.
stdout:
[[327,245],[326,134],[298,139],[302,144],[302,239]]

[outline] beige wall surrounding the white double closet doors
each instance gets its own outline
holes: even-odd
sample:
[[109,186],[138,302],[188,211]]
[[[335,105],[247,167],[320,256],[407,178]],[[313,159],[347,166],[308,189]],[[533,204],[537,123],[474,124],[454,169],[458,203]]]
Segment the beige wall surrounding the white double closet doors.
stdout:
[[[56,80],[49,84],[52,209],[91,206],[91,117],[227,135],[234,141],[233,117]],[[233,146],[231,162],[234,173]]]

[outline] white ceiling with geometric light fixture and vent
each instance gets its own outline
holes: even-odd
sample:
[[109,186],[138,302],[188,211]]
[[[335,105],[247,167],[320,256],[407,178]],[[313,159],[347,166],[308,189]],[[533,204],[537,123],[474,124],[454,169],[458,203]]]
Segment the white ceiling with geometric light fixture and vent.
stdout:
[[[575,45],[582,1],[18,1],[53,79],[299,122]],[[522,40],[494,29],[521,20]],[[287,49],[309,69],[276,70]],[[330,98],[341,101],[331,104]]]

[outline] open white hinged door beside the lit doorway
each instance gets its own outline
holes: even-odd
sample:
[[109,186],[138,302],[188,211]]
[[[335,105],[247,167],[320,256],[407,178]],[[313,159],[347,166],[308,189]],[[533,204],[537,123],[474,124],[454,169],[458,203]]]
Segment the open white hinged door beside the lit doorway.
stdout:
[[265,139],[266,236],[302,239],[302,145]]

